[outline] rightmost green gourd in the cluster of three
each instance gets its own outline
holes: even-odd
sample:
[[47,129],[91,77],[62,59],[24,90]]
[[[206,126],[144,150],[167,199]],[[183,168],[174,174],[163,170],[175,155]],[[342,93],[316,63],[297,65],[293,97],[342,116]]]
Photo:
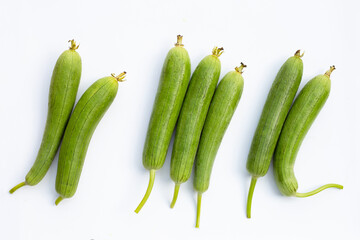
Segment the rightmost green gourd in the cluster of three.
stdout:
[[216,153],[241,98],[244,67],[241,63],[240,67],[227,73],[221,80],[206,116],[195,162],[194,188],[198,192],[196,227],[200,224],[201,196],[209,188]]

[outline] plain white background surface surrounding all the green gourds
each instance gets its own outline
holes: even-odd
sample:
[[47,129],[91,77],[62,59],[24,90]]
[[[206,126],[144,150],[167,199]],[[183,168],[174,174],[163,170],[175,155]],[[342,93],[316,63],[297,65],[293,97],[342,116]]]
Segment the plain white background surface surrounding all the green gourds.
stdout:
[[[359,239],[358,1],[1,1],[0,239]],[[219,149],[195,229],[192,179],[169,208],[170,154],[153,192],[136,215],[148,184],[142,149],[161,67],[184,35],[192,70],[211,49],[225,48],[221,77],[240,61],[245,87]],[[78,98],[97,79],[128,72],[100,122],[76,195],[54,205],[57,157],[43,181],[10,195],[36,157],[46,121],[52,69],[80,43]],[[335,182],[307,199],[284,197],[272,167],[258,181],[252,219],[245,205],[246,159],[271,83],[282,63],[305,50],[301,87],[330,65],[330,97],[299,151],[299,191]],[[171,147],[169,148],[171,153]]]

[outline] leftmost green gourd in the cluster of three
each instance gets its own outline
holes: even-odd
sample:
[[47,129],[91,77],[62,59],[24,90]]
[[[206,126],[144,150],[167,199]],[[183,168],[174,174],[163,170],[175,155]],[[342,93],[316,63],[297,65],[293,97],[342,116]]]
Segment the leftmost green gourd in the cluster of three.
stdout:
[[155,171],[164,165],[171,135],[189,84],[190,58],[183,46],[182,36],[178,35],[177,43],[170,49],[162,68],[143,151],[143,165],[150,170],[150,180],[136,213],[139,213],[150,196]]

